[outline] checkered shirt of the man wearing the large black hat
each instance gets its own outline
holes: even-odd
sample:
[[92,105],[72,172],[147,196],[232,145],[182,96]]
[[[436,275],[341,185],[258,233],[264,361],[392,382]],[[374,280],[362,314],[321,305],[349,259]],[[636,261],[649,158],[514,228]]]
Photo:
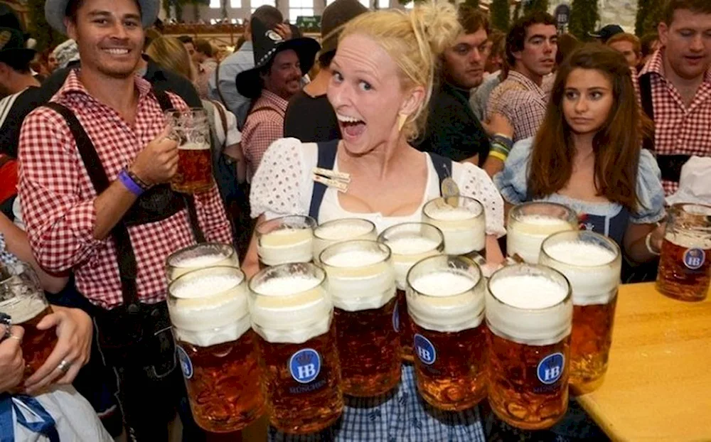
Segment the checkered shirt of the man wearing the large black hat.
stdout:
[[247,116],[242,129],[242,151],[247,158],[247,173],[252,180],[262,162],[262,156],[274,141],[284,138],[284,114],[289,102],[262,89],[262,96],[257,99]]

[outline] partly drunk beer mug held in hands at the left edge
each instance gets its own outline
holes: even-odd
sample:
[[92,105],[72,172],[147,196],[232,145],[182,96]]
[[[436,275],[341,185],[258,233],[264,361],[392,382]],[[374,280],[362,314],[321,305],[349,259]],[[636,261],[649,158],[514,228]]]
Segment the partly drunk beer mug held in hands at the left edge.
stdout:
[[22,338],[22,356],[25,359],[23,381],[42,367],[57,344],[54,328],[38,330],[37,324],[52,313],[44,296],[40,280],[28,264],[18,263],[4,267],[0,281],[0,313],[9,316],[12,325],[25,329]]

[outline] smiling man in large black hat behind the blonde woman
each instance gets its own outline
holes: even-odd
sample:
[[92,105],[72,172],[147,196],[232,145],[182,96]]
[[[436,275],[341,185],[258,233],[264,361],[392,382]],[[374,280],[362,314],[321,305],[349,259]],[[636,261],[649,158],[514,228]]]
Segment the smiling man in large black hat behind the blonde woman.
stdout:
[[301,77],[314,65],[321,46],[313,38],[284,40],[259,18],[252,18],[255,68],[237,75],[237,92],[252,99],[242,129],[247,177],[252,180],[270,144],[284,134],[289,99],[301,90]]

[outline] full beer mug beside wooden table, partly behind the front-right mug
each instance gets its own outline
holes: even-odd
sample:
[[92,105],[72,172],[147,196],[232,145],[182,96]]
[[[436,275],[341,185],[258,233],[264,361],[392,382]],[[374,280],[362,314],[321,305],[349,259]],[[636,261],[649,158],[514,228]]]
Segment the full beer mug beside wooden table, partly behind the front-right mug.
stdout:
[[573,293],[570,385],[597,389],[607,371],[622,254],[613,240],[587,230],[558,232],[541,245],[539,263],[560,271]]

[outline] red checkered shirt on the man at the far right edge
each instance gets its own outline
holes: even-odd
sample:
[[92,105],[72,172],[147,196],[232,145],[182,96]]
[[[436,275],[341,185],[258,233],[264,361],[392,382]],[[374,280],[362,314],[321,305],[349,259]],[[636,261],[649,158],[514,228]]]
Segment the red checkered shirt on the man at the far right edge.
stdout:
[[[657,50],[639,75],[650,73],[654,107],[654,150],[659,155],[711,156],[711,69],[687,107],[678,90],[664,76],[663,49]],[[664,192],[679,183],[662,180]]]

